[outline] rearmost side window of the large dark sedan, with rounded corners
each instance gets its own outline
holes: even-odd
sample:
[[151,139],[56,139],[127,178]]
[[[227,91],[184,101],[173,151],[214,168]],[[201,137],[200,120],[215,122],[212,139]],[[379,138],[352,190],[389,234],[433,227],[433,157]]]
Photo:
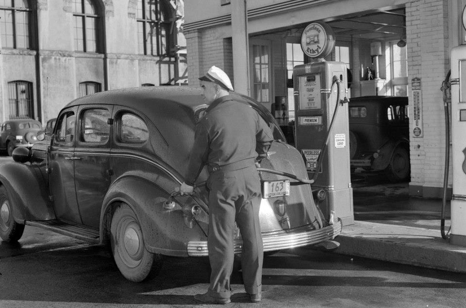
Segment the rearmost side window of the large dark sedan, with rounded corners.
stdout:
[[149,139],[146,123],[132,113],[121,113],[116,129],[116,136],[120,142],[143,143]]

